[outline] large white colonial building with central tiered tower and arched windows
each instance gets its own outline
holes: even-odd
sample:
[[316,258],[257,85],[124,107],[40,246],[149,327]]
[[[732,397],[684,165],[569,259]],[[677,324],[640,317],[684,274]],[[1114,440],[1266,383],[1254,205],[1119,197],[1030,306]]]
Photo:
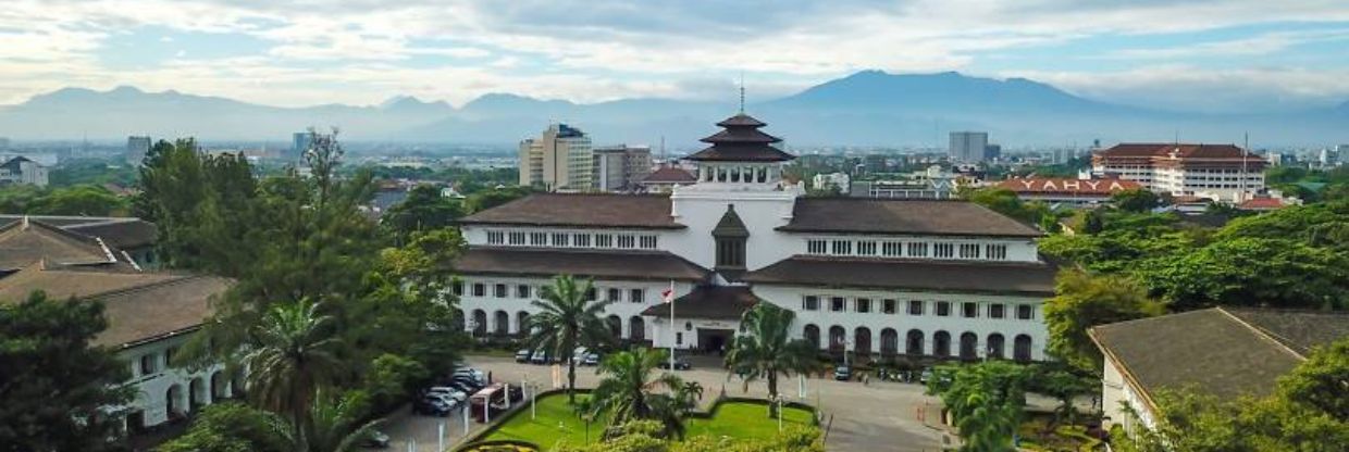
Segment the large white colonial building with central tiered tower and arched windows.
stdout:
[[633,343],[715,352],[769,302],[838,355],[1044,358],[1055,269],[1039,231],[962,201],[804,197],[764,123],[718,125],[685,158],[696,181],[669,194],[534,194],[463,219],[467,328],[521,335],[540,287],[571,274],[594,279]]

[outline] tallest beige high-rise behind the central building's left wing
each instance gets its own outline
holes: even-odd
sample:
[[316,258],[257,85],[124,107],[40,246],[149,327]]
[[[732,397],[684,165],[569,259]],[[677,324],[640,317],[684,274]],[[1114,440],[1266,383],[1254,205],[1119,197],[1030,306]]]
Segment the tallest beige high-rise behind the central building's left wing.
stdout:
[[538,139],[519,142],[519,185],[588,190],[594,186],[592,154],[585,132],[567,124],[549,125]]

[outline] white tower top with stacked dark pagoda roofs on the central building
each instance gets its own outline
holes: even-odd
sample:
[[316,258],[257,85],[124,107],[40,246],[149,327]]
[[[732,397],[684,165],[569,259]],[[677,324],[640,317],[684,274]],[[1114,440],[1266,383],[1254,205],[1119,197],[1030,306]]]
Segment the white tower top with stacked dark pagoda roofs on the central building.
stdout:
[[768,124],[745,113],[716,125],[720,132],[700,140],[711,146],[684,158],[697,163],[699,185],[776,189],[782,165],[796,158],[773,146],[782,139],[759,131]]

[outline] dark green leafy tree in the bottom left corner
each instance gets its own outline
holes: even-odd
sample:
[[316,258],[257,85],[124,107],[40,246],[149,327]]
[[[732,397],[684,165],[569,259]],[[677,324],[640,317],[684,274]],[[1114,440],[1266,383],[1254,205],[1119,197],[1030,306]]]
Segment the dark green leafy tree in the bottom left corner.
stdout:
[[92,345],[108,327],[96,301],[49,300],[34,291],[0,302],[0,449],[113,451],[131,401],[127,366]]

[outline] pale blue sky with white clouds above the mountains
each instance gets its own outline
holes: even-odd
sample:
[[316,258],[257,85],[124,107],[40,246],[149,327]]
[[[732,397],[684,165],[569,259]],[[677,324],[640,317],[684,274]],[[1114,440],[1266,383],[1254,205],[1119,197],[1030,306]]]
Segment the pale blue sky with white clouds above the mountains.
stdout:
[[[1117,103],[1349,100],[1346,0],[7,0],[0,104],[134,85],[271,105],[768,98],[862,69]],[[753,100],[753,98],[751,98]]]

